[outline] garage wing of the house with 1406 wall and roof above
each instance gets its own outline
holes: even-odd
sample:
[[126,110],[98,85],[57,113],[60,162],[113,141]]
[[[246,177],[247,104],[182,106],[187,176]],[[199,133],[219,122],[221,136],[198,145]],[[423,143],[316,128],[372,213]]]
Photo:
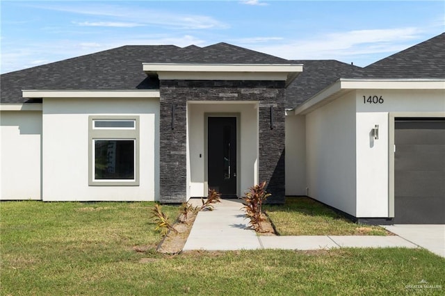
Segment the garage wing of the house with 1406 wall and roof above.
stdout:
[[334,64],[321,85],[312,64],[288,89],[286,170],[299,171],[286,194],[360,222],[444,224],[445,34],[365,68]]

